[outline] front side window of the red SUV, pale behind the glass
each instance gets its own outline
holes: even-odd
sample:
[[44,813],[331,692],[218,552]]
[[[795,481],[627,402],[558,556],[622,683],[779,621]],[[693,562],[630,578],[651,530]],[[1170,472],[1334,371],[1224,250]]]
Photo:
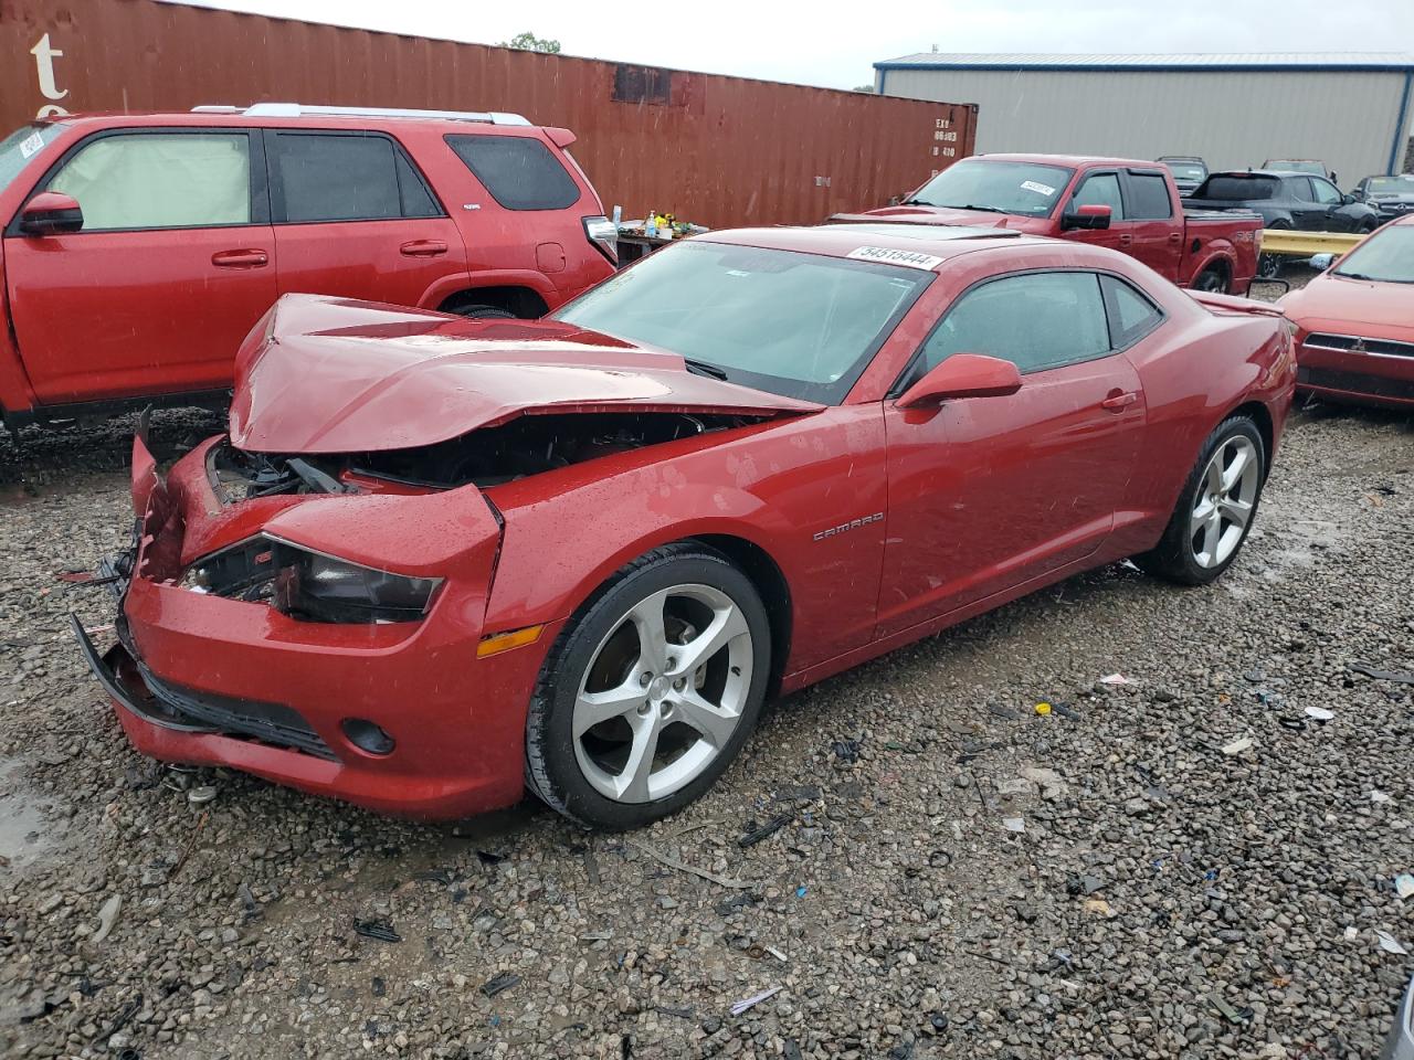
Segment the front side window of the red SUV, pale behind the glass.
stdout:
[[48,184],[83,208],[83,230],[250,223],[245,133],[123,133],[81,147]]

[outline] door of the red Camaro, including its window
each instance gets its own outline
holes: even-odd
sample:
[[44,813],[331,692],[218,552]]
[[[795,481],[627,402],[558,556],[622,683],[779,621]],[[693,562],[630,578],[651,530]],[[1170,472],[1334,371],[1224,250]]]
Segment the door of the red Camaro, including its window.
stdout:
[[885,401],[875,636],[1044,577],[1110,536],[1137,472],[1145,407],[1104,298],[1092,271],[1000,277],[960,295],[919,349],[906,383],[966,352],[1014,362],[1022,384],[929,408]]

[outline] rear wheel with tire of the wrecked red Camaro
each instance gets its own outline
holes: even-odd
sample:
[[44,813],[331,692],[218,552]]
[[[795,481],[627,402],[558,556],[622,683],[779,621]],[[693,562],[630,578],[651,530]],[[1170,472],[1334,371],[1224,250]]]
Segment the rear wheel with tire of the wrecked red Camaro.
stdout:
[[1155,548],[1134,557],[1140,570],[1181,585],[1206,585],[1226,571],[1247,540],[1267,478],[1261,431],[1233,416],[1208,435]]

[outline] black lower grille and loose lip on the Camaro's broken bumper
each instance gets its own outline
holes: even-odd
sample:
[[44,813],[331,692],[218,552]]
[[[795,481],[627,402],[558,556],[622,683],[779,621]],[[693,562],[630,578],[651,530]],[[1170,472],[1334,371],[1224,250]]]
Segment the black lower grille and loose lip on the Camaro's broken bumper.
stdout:
[[168,684],[122,643],[100,656],[76,615],[69,616],[69,625],[93,676],[107,694],[144,721],[178,732],[255,739],[338,762],[329,745],[298,711],[283,704],[235,700]]

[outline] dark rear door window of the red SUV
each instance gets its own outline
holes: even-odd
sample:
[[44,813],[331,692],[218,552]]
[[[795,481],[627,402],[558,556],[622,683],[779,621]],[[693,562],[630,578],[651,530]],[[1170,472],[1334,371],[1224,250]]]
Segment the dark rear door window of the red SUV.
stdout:
[[284,220],[376,220],[403,215],[397,158],[382,136],[276,133],[276,202]]

